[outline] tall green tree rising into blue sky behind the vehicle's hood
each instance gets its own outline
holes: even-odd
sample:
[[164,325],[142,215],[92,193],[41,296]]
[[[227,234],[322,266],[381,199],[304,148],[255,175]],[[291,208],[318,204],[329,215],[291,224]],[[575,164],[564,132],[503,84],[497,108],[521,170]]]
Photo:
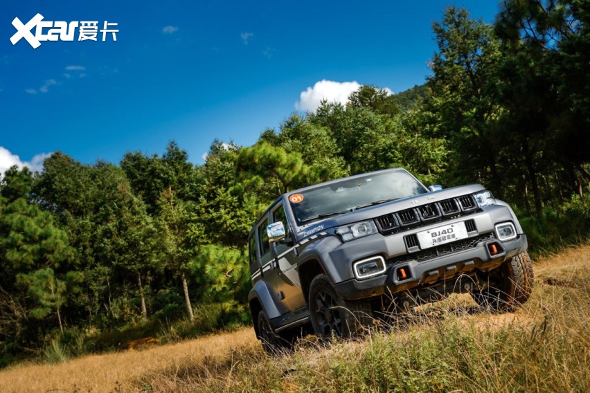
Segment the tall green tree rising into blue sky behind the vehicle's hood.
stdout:
[[431,62],[432,95],[427,107],[436,114],[432,120],[438,133],[452,146],[452,184],[488,183],[502,197],[497,154],[503,141],[494,135],[493,127],[501,112],[494,100],[499,39],[491,26],[470,19],[465,8],[454,6],[445,9],[433,31],[438,52]]

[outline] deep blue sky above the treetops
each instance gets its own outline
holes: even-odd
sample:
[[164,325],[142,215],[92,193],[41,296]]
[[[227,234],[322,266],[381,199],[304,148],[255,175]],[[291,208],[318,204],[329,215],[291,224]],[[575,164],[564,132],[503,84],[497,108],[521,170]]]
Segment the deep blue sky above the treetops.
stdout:
[[[344,82],[409,89],[429,75],[431,24],[449,3],[488,22],[499,11],[476,0],[0,0],[0,170],[58,150],[118,163],[170,140],[200,164],[214,138],[251,145],[312,98],[355,86]],[[73,42],[12,45],[12,20],[37,13],[116,23],[117,40],[78,42],[77,29]]]

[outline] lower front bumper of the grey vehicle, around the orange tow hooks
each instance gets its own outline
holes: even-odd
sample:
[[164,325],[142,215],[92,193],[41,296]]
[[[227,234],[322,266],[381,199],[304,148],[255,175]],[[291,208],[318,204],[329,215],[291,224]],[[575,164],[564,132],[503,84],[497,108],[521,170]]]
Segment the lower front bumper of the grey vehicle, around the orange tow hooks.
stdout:
[[[490,244],[500,245],[499,253],[491,255]],[[473,248],[441,255],[418,262],[408,259],[388,264],[385,273],[366,280],[346,280],[334,284],[334,289],[346,299],[371,298],[383,293],[395,294],[409,289],[425,289],[447,282],[460,275],[474,275],[478,271],[490,271],[506,259],[524,253],[528,247],[526,235],[501,242],[495,239],[481,241]],[[406,278],[399,271],[406,268]]]

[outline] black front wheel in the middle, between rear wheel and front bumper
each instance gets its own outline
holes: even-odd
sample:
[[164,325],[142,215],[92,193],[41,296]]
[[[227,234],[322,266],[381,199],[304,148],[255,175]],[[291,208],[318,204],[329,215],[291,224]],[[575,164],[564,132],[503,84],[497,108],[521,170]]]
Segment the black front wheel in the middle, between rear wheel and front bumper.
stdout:
[[307,304],[314,333],[320,338],[357,336],[373,321],[369,302],[344,300],[324,274],[312,281]]

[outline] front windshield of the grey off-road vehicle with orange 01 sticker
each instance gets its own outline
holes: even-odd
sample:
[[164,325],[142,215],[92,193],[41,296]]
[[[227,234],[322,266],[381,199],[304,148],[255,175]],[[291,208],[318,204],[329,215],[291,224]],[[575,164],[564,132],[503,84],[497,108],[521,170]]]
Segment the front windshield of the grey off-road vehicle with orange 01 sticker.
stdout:
[[393,171],[357,179],[342,179],[337,183],[291,194],[289,201],[298,225],[302,225],[425,192],[428,190],[407,172]]

